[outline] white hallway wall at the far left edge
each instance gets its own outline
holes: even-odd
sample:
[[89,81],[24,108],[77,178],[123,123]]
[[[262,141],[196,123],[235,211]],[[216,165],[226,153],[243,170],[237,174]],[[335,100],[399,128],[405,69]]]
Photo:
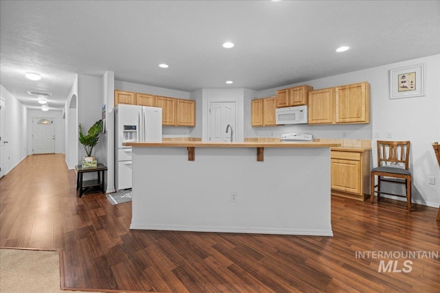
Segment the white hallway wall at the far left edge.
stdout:
[[5,162],[8,174],[28,155],[28,108],[23,106],[4,86],[0,84],[0,98],[5,101]]

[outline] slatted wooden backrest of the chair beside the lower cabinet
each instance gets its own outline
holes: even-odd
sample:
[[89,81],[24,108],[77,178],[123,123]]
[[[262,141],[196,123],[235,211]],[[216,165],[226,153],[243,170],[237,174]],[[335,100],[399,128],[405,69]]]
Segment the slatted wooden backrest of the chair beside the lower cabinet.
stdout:
[[409,167],[410,141],[377,141],[377,164]]

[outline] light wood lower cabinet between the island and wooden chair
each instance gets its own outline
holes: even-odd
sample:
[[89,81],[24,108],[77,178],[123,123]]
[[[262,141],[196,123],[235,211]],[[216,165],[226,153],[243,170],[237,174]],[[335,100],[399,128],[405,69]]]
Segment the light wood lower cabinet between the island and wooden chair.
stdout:
[[331,194],[365,200],[370,194],[370,152],[367,148],[331,149]]

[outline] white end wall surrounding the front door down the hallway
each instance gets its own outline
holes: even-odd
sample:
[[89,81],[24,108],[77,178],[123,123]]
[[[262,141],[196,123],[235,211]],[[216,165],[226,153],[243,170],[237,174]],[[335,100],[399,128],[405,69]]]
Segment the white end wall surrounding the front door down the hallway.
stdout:
[[63,112],[61,111],[42,111],[42,110],[28,110],[28,154],[32,152],[32,120],[34,118],[52,118],[55,126],[55,152],[65,153],[65,124],[63,119]]

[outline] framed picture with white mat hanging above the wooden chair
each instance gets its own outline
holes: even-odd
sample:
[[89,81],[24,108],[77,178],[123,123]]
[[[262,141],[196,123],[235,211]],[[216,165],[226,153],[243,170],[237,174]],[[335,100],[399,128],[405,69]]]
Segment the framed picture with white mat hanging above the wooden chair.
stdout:
[[390,99],[425,95],[425,65],[390,70]]

